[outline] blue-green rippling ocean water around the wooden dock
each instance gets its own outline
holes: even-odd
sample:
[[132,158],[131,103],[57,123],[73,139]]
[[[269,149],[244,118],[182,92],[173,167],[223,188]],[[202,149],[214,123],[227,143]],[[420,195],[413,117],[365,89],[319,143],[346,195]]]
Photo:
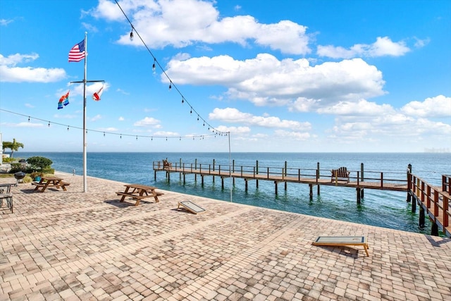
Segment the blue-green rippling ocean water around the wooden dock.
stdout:
[[[82,175],[82,153],[78,152],[15,152],[15,157],[27,159],[30,156],[44,156],[53,161],[51,165],[57,171]],[[384,179],[407,178],[407,166],[412,164],[412,173],[432,185],[441,185],[441,176],[451,173],[450,153],[157,153],[157,152],[88,152],[87,175],[97,178],[118,180],[125,183],[142,183],[154,185],[163,190],[182,192],[188,195],[221,199],[257,207],[266,207],[283,211],[321,216],[327,219],[352,221],[371,226],[381,226],[416,233],[431,233],[431,223],[427,221],[424,228],[419,228],[419,212],[412,213],[411,204],[406,202],[406,192],[389,192],[385,190],[364,190],[361,204],[357,204],[356,191],[353,188],[336,188],[321,186],[320,195],[309,197],[309,185],[288,183],[287,190],[283,183],[278,185],[275,194],[274,183],[249,181],[245,191],[245,181],[204,177],[194,180],[194,175],[178,176],[171,173],[168,181],[166,173],[157,173],[154,178],[152,162],[168,161],[175,163],[197,164],[206,166],[256,166],[266,171],[283,168],[285,161],[288,168],[301,168],[302,172],[313,173],[319,164],[321,175],[330,175],[330,169],[346,166],[348,170],[360,171],[364,164],[365,177],[378,178],[383,172]],[[221,168],[223,168],[221,167]],[[87,183],[89,190],[89,181]],[[231,188],[231,189],[230,189]]]

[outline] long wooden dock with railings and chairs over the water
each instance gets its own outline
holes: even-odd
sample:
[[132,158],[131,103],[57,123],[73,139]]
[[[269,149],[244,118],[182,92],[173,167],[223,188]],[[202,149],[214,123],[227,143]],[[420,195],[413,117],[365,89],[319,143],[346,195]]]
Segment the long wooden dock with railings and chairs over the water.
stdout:
[[364,164],[362,164],[360,171],[350,171],[347,178],[334,177],[330,169],[319,168],[319,163],[316,169],[288,168],[286,161],[284,167],[261,167],[258,161],[255,166],[235,166],[235,161],[233,164],[221,165],[216,164],[215,161],[212,164],[199,164],[197,160],[194,163],[183,163],[181,160],[179,163],[165,161],[164,164],[163,161],[154,161],[152,166],[155,179],[158,172],[165,172],[168,180],[171,180],[171,173],[179,173],[180,178],[183,177],[183,183],[185,183],[186,175],[194,175],[194,180],[197,180],[197,176],[201,177],[203,185],[204,177],[211,176],[213,182],[215,178],[221,178],[222,188],[224,188],[224,180],[228,178],[232,178],[233,185],[235,185],[235,179],[244,180],[246,191],[249,181],[255,181],[257,188],[260,180],[272,181],[276,195],[279,183],[284,184],[285,190],[288,183],[308,184],[311,198],[314,186],[317,188],[318,195],[321,185],[354,188],[357,204],[364,197],[364,189],[407,192],[407,202],[414,199],[412,211],[416,211],[416,204],[420,206],[419,225],[424,226],[424,219],[428,214],[433,222],[431,233],[438,235],[438,229],[440,229],[445,235],[451,237],[451,227],[448,222],[451,215],[450,176],[443,176],[441,188],[434,187],[409,173],[408,171],[412,170],[410,165],[405,173],[393,171],[384,173],[364,171]]

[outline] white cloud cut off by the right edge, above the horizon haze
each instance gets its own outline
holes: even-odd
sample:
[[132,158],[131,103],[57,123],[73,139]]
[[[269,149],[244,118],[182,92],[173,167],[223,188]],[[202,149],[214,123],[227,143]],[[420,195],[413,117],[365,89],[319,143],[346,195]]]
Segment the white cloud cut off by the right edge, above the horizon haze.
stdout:
[[451,97],[438,95],[426,98],[424,102],[409,102],[401,108],[401,111],[416,117],[449,117],[451,116]]

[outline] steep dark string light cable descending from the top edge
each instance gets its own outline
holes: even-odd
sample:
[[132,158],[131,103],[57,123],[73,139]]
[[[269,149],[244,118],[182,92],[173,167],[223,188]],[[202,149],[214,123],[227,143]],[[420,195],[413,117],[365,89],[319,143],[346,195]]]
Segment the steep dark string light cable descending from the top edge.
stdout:
[[168,73],[166,73],[166,70],[164,70],[164,68],[161,66],[161,64],[159,63],[159,61],[156,59],[156,56],[154,56],[154,54],[152,53],[152,50],[149,49],[149,47],[147,47],[146,42],[144,42],[144,39],[142,39],[141,35],[139,32],[137,32],[135,26],[133,26],[132,21],[130,21],[130,19],[128,18],[127,14],[125,13],[125,11],[123,11],[121,5],[119,5],[117,0],[114,0],[116,2],[116,4],[118,5],[118,7],[121,9],[123,15],[125,16],[125,18],[127,19],[128,23],[130,23],[131,26],[131,31],[130,31],[130,40],[132,40],[135,35],[133,34],[133,32],[135,32],[135,34],[137,35],[137,37],[140,38],[142,44],[144,44],[144,47],[146,47],[147,51],[149,52],[149,54],[152,56],[152,59],[154,59],[154,63],[152,65],[152,70],[155,70],[156,66],[158,66],[161,70],[161,72],[163,73],[163,75],[166,76],[166,78],[169,81],[169,90],[174,89],[175,91],[178,92],[178,94],[180,94],[180,97],[182,97],[182,104],[184,104],[185,102],[188,104],[188,106],[190,106],[190,113],[194,113],[194,116],[197,115],[197,121],[202,121],[203,125],[207,125],[208,126],[208,130],[211,130],[212,133],[216,133],[216,135],[230,135],[230,132],[222,132],[221,130],[217,130],[216,128],[214,128],[214,126],[212,126],[211,124],[209,124],[204,118],[202,118],[202,116],[200,116],[199,113],[197,113],[197,111],[194,109],[194,107],[190,104],[190,102],[187,101],[186,97],[183,96],[182,92],[178,89],[178,87],[175,85],[175,83],[173,82],[173,80],[171,80],[171,78],[169,78]]

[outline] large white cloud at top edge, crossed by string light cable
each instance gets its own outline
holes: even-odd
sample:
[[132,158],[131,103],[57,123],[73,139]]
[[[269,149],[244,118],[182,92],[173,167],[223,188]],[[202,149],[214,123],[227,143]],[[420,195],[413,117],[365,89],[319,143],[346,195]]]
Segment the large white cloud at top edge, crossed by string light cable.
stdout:
[[[252,16],[220,18],[214,2],[199,0],[130,0],[121,1],[120,5],[142,39],[154,48],[223,42],[246,45],[253,42],[285,54],[311,52],[307,27],[290,20],[263,24]],[[97,8],[88,13],[95,18],[123,21],[121,10],[111,1],[100,0]],[[140,41],[130,41],[129,37],[129,32],[126,32],[118,42],[142,46]]]

